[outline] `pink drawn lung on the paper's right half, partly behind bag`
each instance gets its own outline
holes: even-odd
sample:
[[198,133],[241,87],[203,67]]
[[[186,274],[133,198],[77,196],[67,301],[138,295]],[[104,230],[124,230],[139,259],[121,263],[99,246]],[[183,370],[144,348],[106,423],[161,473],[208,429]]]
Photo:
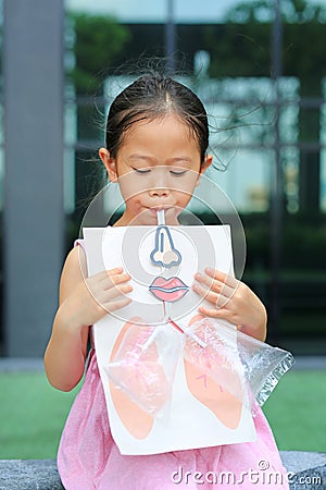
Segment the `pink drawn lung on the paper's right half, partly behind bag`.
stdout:
[[[196,321],[202,319],[204,319],[203,316],[196,315],[193,318],[191,318],[189,327]],[[196,333],[198,334],[198,331]],[[191,343],[191,339],[189,336],[187,336],[185,348],[187,348],[187,342]],[[212,347],[205,347],[208,359],[204,363],[204,368],[202,366],[202,363],[197,362],[198,359],[196,359],[196,354],[186,356],[188,358],[184,357],[187,384],[192,395],[200,403],[212,411],[213,414],[218,418],[218,420],[222,421],[222,424],[224,424],[229,429],[236,429],[241,418],[242,402],[239,400],[239,397],[231,394],[216,381],[216,371],[218,370],[218,353],[216,353],[216,350],[213,348],[210,352],[210,348]],[[191,355],[193,355],[192,362],[189,360],[191,359]],[[221,355],[221,366],[224,360],[222,356],[223,354]],[[227,382],[233,383],[229,385],[234,385],[237,390],[237,387],[240,383],[238,375],[226,369],[223,370],[221,376],[225,376],[226,372],[229,377]]]

